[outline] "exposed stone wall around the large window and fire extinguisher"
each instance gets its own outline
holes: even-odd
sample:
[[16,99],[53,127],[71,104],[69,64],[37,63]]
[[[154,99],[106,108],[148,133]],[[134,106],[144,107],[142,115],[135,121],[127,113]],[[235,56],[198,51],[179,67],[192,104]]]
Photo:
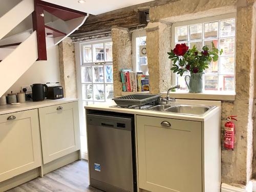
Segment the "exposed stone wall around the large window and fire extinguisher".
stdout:
[[[235,149],[234,151],[222,150],[222,182],[233,185],[245,185],[250,180],[252,172],[252,130],[254,106],[253,93],[256,27],[254,13],[255,4],[253,4],[254,2],[255,1],[252,0],[238,2],[234,0],[195,0],[193,2],[180,0],[178,2],[151,8],[151,23],[147,27],[147,29],[153,27],[159,28],[159,22],[175,23],[184,20],[237,12],[237,95],[234,102],[222,102],[222,132],[224,130],[226,117],[229,115],[238,115],[238,122],[236,122],[237,129]],[[155,57],[157,57],[158,54],[156,45],[159,44],[159,39],[161,39],[161,37],[157,32],[157,28],[155,31],[152,30],[151,32],[147,32],[147,53],[149,72],[151,76],[153,75],[150,82],[151,86],[153,84],[154,86],[159,84],[160,87],[159,79],[161,79],[161,73],[158,73],[156,70],[159,65],[158,61],[160,59],[158,60]],[[157,39],[154,39],[154,36]],[[154,55],[153,57],[149,54],[149,52],[151,51],[151,47],[154,44],[156,47],[156,53],[152,53]],[[164,50],[164,48],[162,49]],[[151,70],[154,71],[151,72]],[[154,87],[151,89],[157,92],[160,90],[159,87]]]

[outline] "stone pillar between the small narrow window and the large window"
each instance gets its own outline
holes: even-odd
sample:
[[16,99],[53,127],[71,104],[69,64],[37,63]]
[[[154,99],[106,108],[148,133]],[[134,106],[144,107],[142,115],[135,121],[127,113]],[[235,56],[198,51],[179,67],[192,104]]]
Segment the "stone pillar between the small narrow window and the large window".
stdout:
[[166,53],[170,50],[171,25],[149,23],[146,29],[146,50],[148,73],[150,74],[150,92],[165,92],[171,86],[170,59]]

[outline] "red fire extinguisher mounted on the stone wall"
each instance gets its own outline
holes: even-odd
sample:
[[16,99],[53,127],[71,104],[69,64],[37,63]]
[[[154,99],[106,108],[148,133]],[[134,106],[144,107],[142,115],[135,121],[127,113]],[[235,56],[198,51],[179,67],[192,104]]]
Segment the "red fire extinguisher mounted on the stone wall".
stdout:
[[225,123],[225,138],[224,138],[224,147],[227,150],[233,150],[234,148],[234,123],[231,120],[236,120],[234,117],[229,116],[227,122]]

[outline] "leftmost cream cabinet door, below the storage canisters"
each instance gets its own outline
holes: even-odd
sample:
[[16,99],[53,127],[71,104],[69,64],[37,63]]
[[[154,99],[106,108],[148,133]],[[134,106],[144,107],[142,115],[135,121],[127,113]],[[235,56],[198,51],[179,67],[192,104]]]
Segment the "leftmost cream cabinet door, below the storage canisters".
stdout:
[[37,110],[0,115],[0,182],[39,166]]

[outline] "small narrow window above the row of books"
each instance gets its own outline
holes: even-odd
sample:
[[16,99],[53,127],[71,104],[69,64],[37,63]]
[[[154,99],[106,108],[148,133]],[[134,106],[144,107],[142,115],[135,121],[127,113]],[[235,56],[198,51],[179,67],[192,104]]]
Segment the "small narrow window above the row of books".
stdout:
[[143,72],[148,75],[147,56],[146,56],[146,32],[135,31],[132,35],[133,40],[133,70]]

